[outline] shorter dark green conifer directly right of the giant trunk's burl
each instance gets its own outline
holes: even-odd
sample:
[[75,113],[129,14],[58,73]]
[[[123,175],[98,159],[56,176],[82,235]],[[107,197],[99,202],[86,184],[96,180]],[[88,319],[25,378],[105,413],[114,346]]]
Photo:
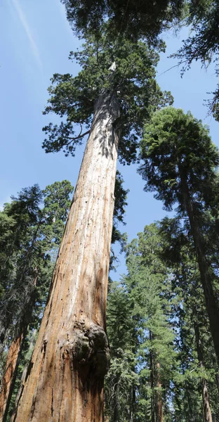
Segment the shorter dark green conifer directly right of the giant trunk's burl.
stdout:
[[110,284],[107,302],[107,334],[110,339],[111,364],[105,377],[105,414],[110,421],[128,421],[130,395],[138,382],[133,354],[132,302],[119,283]]

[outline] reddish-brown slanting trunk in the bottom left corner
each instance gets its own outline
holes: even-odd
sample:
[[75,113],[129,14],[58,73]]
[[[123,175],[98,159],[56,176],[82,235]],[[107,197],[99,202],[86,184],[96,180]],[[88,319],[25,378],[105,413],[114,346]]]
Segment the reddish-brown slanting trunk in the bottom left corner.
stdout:
[[20,357],[20,349],[22,345],[22,333],[15,338],[8,350],[8,356],[6,360],[6,369],[2,380],[1,391],[0,391],[0,422],[6,421],[6,415],[8,413],[8,407],[13,392],[13,386],[15,383],[15,373],[18,369],[18,362]]

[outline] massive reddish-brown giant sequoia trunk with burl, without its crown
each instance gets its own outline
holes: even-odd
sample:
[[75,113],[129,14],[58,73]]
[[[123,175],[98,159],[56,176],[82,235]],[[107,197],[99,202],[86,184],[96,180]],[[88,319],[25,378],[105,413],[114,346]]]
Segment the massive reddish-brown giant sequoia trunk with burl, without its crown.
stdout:
[[11,419],[103,421],[107,280],[114,210],[119,103],[102,92],[95,106],[72,207],[32,361]]

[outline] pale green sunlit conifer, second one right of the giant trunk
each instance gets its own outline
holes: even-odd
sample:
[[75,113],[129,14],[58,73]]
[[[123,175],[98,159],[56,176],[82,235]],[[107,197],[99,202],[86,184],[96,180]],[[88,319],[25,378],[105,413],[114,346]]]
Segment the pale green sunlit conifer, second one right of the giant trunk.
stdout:
[[[127,248],[128,276],[124,282],[133,300],[138,356],[135,417],[162,422],[170,409],[171,371],[175,364],[173,330],[169,321],[171,294],[169,270],[159,258],[161,249],[157,224],[145,226]],[[165,406],[164,406],[165,403]],[[150,404],[150,405],[149,405]],[[137,419],[138,420],[138,419]]]

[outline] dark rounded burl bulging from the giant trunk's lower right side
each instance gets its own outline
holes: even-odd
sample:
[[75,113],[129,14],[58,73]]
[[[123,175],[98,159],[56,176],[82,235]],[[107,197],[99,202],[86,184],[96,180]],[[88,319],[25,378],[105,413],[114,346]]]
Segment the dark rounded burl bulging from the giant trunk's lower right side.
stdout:
[[72,348],[73,364],[79,373],[92,371],[97,378],[104,378],[110,365],[110,349],[102,327],[92,324],[89,328],[77,325]]

